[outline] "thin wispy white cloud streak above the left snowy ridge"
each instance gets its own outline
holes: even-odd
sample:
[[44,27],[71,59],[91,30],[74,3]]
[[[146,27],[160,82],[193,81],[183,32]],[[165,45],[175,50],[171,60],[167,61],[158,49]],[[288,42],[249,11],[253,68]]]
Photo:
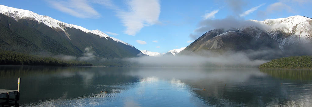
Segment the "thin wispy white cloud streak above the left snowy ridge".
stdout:
[[80,18],[99,18],[100,14],[86,0],[48,1],[52,8]]

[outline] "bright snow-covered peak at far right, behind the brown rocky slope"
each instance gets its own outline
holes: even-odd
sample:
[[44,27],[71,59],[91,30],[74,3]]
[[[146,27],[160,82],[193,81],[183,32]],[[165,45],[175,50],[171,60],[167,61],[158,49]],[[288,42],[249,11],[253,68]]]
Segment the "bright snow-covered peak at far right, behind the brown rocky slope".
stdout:
[[268,29],[268,32],[271,37],[280,44],[281,49],[285,45],[297,42],[310,43],[312,41],[311,18],[305,16],[290,16],[287,18],[268,19],[258,22],[271,27]]

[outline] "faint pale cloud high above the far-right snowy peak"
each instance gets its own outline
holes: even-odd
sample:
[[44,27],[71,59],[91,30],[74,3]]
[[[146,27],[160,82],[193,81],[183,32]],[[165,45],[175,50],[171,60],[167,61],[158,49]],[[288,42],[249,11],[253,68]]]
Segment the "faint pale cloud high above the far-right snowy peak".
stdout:
[[275,2],[271,5],[269,5],[266,9],[267,12],[275,12],[275,11],[278,11],[278,12],[281,12],[283,10],[286,10],[288,12],[292,12],[292,9],[290,6],[282,3],[282,2]]

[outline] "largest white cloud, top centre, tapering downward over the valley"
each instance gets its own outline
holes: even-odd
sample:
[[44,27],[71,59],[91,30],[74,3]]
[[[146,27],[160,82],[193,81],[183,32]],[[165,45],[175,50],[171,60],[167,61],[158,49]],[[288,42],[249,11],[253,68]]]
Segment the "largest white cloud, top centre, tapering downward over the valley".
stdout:
[[159,0],[131,0],[127,2],[129,11],[118,11],[117,16],[126,27],[124,31],[128,35],[135,35],[144,26],[159,23]]

